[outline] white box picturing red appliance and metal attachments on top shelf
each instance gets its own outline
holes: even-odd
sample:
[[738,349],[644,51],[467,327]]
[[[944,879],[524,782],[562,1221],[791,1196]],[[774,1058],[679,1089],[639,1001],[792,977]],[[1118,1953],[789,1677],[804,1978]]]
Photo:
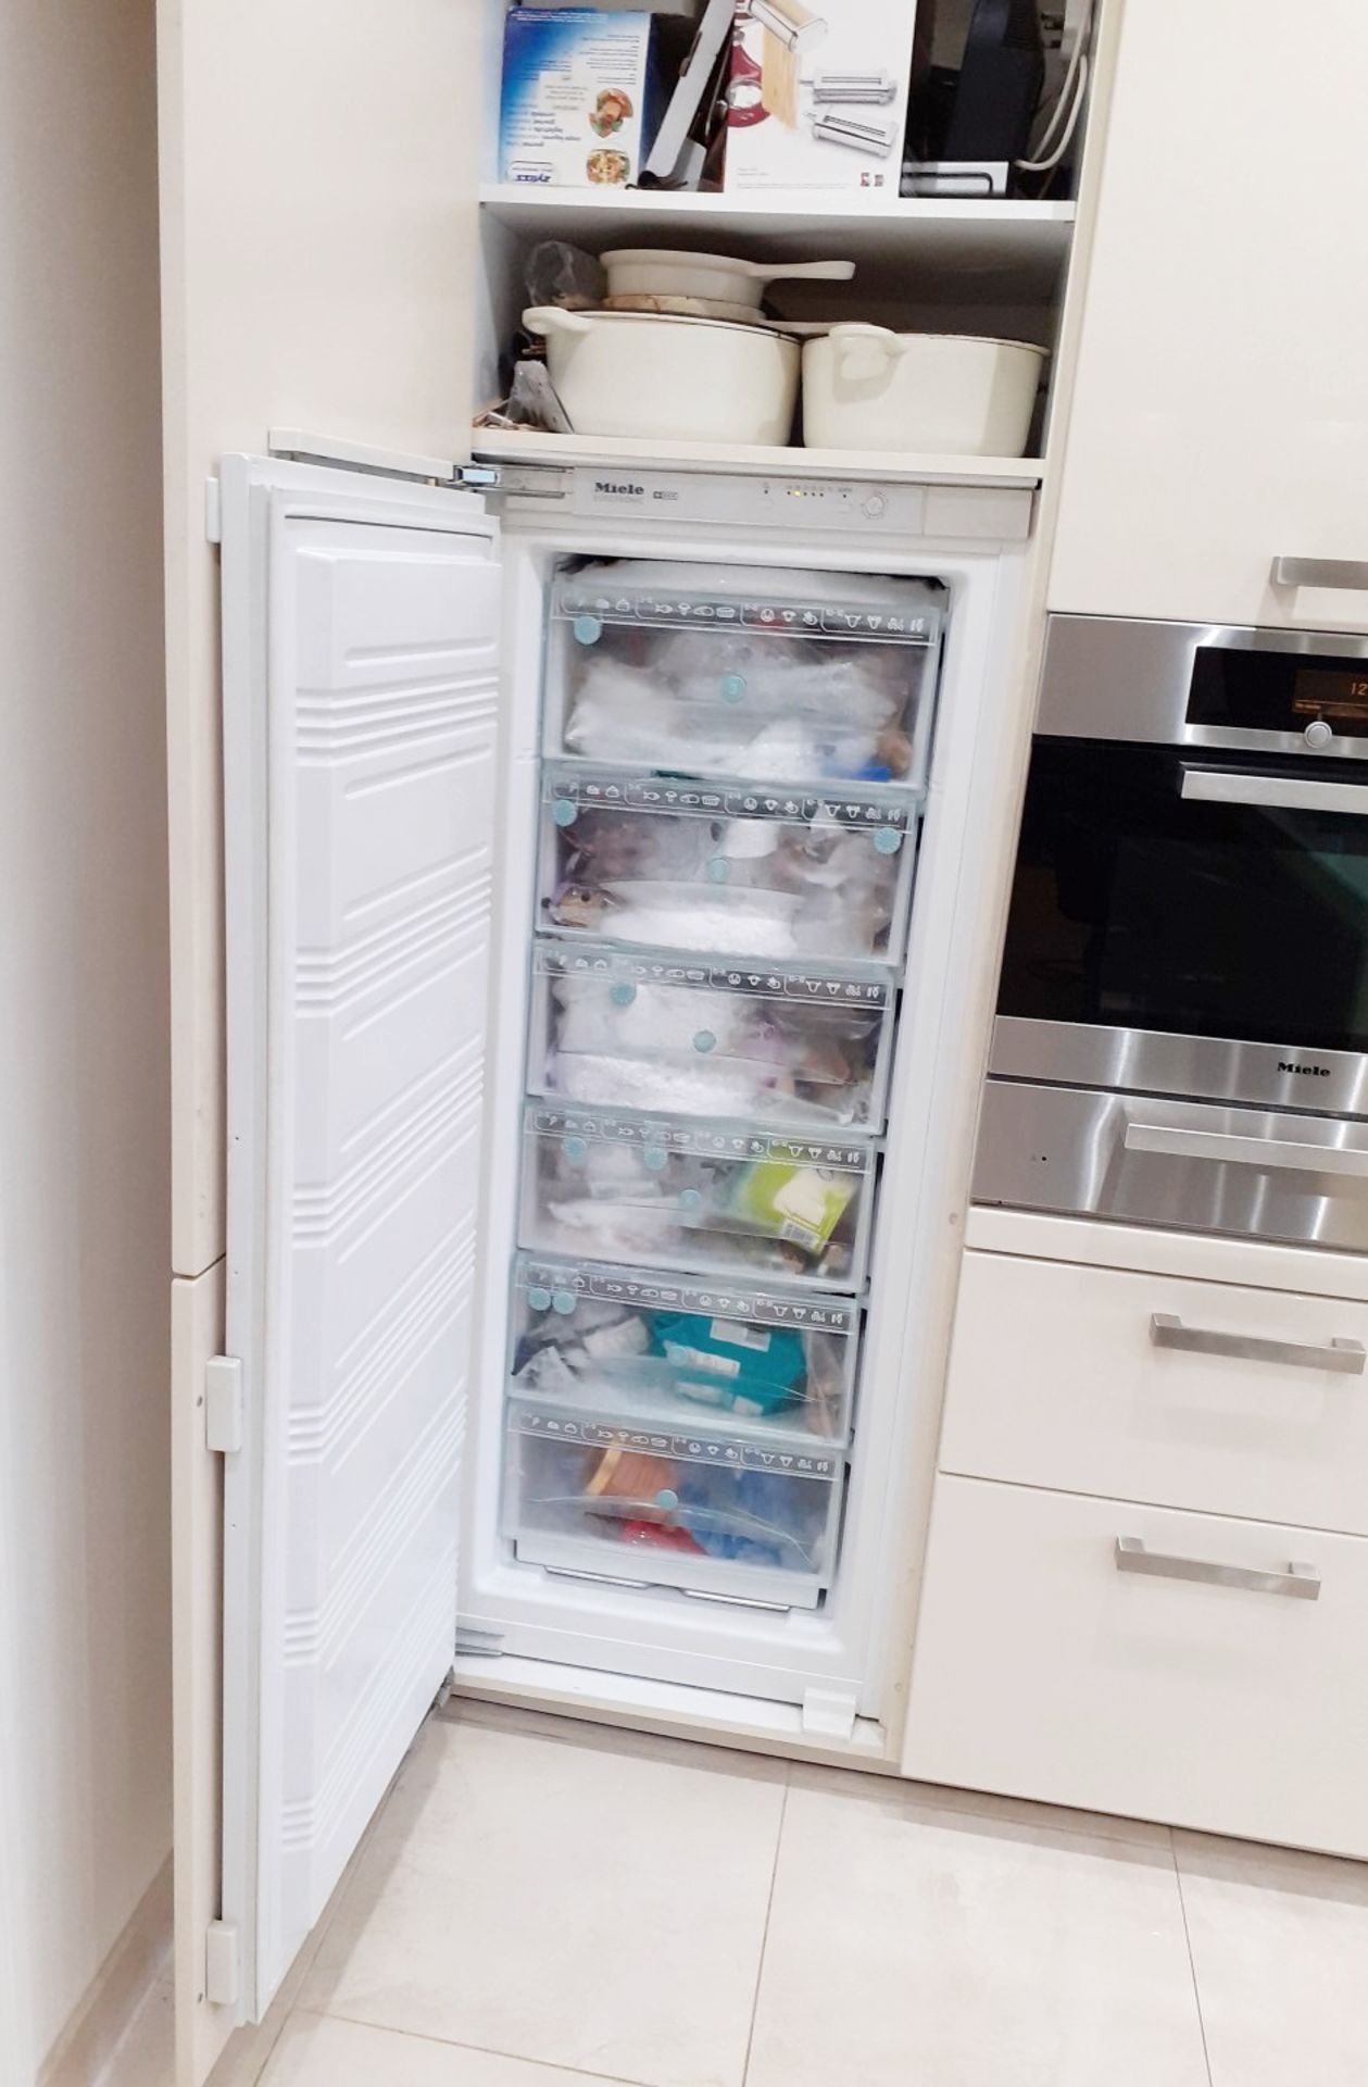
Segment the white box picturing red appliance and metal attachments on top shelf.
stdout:
[[897,196],[915,0],[738,0],[728,192]]

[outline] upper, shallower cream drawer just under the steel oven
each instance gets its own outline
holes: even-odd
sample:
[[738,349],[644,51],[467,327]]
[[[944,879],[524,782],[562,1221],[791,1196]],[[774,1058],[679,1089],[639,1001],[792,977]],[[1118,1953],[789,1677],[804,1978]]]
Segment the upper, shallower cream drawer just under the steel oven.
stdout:
[[1368,1534],[1364,1344],[1366,1304],[968,1252],[940,1467]]

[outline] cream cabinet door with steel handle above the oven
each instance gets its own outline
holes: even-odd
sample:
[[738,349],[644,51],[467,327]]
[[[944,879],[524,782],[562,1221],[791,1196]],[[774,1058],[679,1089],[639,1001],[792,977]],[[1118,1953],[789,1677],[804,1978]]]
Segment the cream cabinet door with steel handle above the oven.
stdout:
[[1362,0],[1124,0],[1053,609],[1368,628],[1366,69]]

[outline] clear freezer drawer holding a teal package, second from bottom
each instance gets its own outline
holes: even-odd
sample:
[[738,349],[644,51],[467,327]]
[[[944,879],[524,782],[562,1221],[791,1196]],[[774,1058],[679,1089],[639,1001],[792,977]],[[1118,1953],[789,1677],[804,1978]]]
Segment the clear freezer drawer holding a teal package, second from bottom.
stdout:
[[513,1394],[636,1425],[728,1428],[744,1440],[847,1442],[859,1306],[690,1275],[517,1256]]

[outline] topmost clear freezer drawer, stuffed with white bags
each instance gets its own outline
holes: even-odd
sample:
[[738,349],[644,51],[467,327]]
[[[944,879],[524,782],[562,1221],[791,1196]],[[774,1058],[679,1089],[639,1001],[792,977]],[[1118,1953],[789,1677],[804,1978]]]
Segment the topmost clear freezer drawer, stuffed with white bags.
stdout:
[[920,789],[943,599],[924,580],[851,574],[573,574],[553,595],[546,753]]

